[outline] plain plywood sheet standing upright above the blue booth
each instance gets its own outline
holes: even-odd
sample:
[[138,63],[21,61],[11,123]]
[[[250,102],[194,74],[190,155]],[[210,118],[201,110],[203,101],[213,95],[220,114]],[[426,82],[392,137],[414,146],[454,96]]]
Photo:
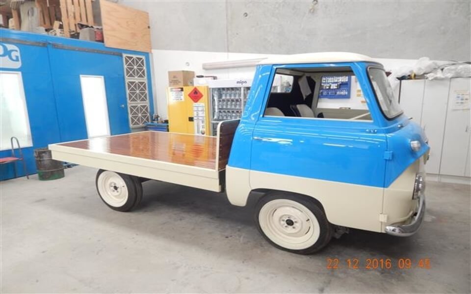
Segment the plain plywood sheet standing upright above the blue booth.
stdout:
[[149,14],[109,1],[100,1],[105,46],[151,51]]

